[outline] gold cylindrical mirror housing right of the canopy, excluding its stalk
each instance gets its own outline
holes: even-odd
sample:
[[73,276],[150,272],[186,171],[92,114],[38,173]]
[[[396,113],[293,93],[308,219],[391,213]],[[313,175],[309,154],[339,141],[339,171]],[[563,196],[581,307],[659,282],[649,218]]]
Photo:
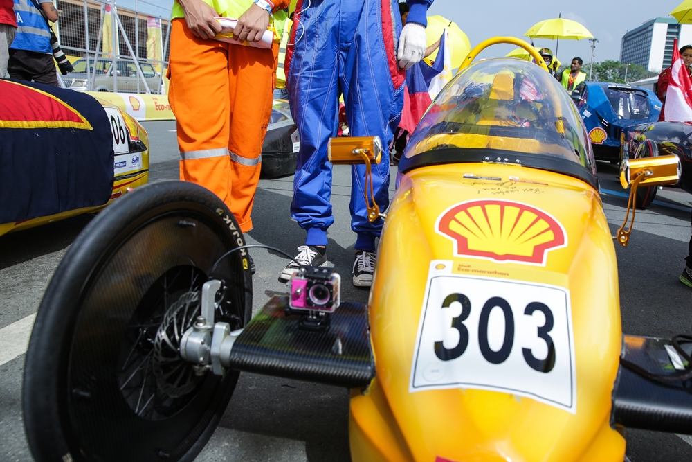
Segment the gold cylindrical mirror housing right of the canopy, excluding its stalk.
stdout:
[[620,166],[620,184],[625,189],[635,181],[637,186],[676,184],[681,172],[680,158],[675,154],[625,159]]

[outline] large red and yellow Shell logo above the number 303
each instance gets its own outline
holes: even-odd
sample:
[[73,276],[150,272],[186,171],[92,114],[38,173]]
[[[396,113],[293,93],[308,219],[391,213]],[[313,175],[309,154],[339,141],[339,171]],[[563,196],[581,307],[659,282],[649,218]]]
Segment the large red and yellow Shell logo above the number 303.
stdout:
[[548,251],[567,246],[560,222],[538,208],[503,200],[462,202],[437,218],[435,231],[454,255],[545,266]]

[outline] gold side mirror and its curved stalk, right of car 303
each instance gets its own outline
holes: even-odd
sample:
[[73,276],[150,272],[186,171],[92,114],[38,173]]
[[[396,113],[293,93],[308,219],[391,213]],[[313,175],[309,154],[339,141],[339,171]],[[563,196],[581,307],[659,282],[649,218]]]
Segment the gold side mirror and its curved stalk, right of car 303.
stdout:
[[[625,159],[620,166],[620,184],[623,188],[630,189],[630,200],[627,204],[625,222],[617,230],[617,242],[622,247],[627,247],[630,242],[630,233],[635,224],[635,200],[639,186],[659,186],[663,184],[676,184],[680,181],[682,165],[680,158],[675,154],[669,156],[641,157],[639,159]],[[627,220],[632,211],[630,228],[625,230]]]

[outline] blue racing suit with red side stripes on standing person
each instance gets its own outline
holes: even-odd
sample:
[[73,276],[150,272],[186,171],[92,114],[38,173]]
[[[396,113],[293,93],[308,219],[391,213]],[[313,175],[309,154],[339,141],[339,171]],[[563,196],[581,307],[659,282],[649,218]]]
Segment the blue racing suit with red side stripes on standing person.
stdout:
[[[408,0],[408,22],[427,25],[432,0]],[[387,146],[399,125],[406,73],[397,66],[401,16],[397,0],[298,0],[286,52],[291,114],[300,133],[291,215],[307,231],[306,245],[327,245],[331,163],[327,143],[338,130],[343,94],[351,136],[379,136],[385,152],[372,166],[374,195],[389,204]],[[370,223],[365,166],[352,168],[351,228],[356,249],[375,250],[382,220]]]

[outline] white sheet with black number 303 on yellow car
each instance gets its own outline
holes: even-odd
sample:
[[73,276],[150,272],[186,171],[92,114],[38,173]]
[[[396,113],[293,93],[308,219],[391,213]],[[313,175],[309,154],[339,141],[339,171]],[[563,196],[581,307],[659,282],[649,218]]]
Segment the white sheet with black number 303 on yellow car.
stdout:
[[569,291],[451,267],[430,265],[409,391],[500,391],[576,413]]

